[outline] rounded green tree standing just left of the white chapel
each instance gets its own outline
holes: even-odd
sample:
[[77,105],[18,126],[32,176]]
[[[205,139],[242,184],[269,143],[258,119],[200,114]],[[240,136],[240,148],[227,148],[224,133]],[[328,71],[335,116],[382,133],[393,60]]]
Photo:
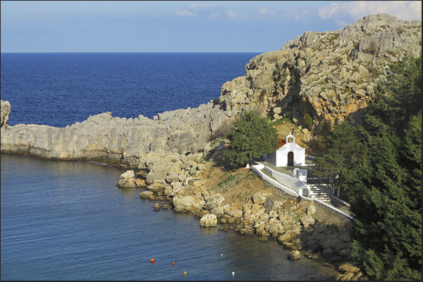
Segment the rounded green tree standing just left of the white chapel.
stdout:
[[267,118],[253,112],[244,113],[234,129],[227,132],[230,144],[224,156],[233,166],[246,164],[254,157],[262,157],[278,149],[278,132]]

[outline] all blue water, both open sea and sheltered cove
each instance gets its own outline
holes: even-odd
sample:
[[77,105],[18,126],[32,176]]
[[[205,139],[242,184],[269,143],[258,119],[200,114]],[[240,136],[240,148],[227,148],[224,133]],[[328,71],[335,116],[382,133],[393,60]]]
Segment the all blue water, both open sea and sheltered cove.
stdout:
[[[1,99],[9,125],[65,127],[107,111],[153,118],[219,98],[259,54],[1,53]],[[143,189],[116,186],[124,171],[1,153],[1,280],[330,279],[274,239],[156,211]]]

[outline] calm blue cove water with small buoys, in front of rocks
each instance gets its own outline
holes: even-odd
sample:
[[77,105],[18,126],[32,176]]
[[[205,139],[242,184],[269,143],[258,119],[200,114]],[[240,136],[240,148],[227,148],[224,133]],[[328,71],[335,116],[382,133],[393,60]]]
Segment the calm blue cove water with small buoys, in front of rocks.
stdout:
[[288,260],[274,240],[155,211],[142,190],[116,187],[122,172],[1,154],[1,280],[329,278],[318,262]]

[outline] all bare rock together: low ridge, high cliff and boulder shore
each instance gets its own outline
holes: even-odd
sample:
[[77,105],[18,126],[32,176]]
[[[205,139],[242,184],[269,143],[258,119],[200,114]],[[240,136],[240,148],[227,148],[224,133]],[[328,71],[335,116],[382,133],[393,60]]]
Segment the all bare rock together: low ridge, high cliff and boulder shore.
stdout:
[[335,280],[363,279],[356,267],[340,264],[351,262],[347,227],[316,223],[312,202],[274,202],[266,193],[240,205],[223,204],[229,199],[221,192],[202,187],[203,161],[206,155],[222,154],[224,146],[213,141],[245,111],[293,120],[309,133],[302,141],[310,147],[343,120],[359,122],[374,87],[389,75],[389,63],[405,55],[419,57],[421,38],[421,21],[383,13],[337,31],[307,31],[281,50],[252,58],[245,76],[222,85],[219,99],[153,119],[107,112],[61,128],[9,126],[11,104],[1,100],[1,153],[137,169],[121,176],[119,187],[145,187],[140,197],[166,200],[175,212],[192,213],[205,226],[233,227],[261,241],[274,238],[290,249],[290,259],[300,251],[310,259],[328,260],[341,275]]

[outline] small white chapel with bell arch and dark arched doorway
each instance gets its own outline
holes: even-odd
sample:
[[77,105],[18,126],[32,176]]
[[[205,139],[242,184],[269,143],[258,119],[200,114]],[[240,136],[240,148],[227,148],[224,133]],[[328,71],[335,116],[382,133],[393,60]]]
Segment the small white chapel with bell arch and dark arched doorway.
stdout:
[[[282,145],[284,142],[280,142]],[[278,148],[276,152],[264,155],[264,160],[270,162],[275,167],[288,167],[288,166],[304,166],[305,165],[305,148],[295,143],[295,136],[292,132],[286,136],[286,143]]]

